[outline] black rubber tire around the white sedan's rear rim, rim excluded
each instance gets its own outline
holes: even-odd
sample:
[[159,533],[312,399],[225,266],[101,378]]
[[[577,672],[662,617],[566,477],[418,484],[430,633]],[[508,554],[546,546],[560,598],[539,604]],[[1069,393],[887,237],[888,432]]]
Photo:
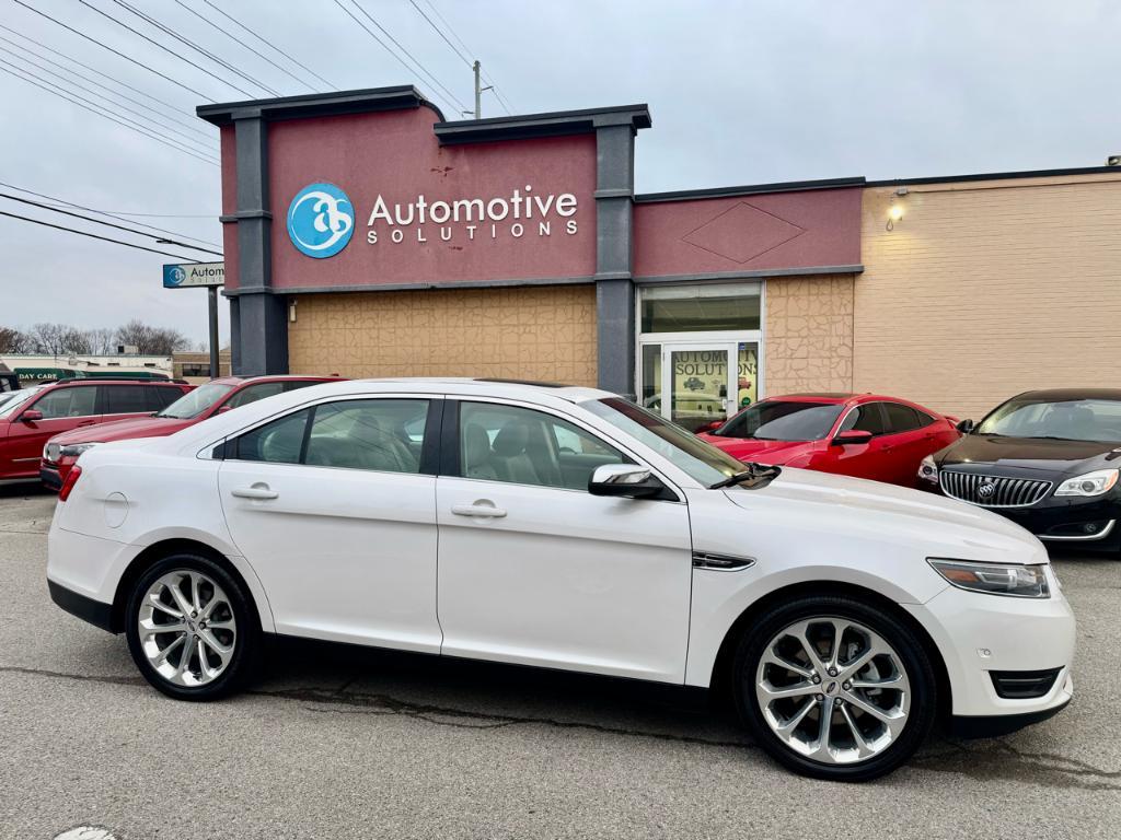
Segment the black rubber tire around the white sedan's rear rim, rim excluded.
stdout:
[[[234,650],[230,661],[215,679],[202,685],[179,685],[160,675],[143,652],[138,627],[141,601],[149,587],[163,576],[179,570],[201,572],[217,584],[226,595],[230,610],[237,623]],[[220,563],[200,554],[170,554],[152,563],[140,576],[129,592],[124,613],[124,635],[128,640],[129,653],[132,654],[132,661],[136,662],[143,678],[154,688],[176,700],[217,700],[241,690],[256,675],[261,653],[260,619],[245,588]]]

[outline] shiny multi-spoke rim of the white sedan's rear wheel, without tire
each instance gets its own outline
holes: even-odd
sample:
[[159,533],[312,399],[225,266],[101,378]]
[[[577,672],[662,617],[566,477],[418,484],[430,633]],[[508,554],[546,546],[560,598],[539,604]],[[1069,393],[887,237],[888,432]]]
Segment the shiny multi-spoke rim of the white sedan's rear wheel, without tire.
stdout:
[[222,587],[189,569],[170,571],[148,587],[137,628],[152,670],[187,688],[221,676],[238,641],[233,608]]

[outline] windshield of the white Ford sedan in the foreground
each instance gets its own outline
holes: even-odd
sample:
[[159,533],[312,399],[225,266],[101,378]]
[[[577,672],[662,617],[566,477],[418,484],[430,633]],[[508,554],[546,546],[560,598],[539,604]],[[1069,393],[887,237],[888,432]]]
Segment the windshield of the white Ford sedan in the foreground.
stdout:
[[747,465],[712,444],[627,400],[611,396],[585,402],[583,407],[637,438],[705,487],[747,469]]

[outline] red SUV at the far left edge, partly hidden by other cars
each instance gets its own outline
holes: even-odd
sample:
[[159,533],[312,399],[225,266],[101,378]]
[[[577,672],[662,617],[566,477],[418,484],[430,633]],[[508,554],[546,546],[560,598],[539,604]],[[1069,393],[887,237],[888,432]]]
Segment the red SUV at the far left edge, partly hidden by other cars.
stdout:
[[75,379],[6,393],[0,402],[0,479],[36,478],[43,445],[56,435],[105,420],[147,417],[193,388],[175,382]]

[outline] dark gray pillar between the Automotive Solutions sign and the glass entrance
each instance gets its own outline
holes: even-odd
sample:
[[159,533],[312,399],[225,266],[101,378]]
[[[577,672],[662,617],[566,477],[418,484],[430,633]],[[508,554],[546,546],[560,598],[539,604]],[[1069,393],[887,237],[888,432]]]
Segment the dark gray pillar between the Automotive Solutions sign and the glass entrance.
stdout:
[[634,128],[595,131],[595,315],[599,385],[634,399]]

